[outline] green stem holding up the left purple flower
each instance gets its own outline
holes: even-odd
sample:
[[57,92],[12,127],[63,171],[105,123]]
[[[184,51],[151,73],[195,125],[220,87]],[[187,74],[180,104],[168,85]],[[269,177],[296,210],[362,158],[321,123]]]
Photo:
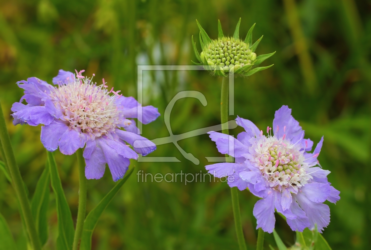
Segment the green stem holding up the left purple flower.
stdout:
[[85,221],[85,212],[86,212],[86,177],[85,177],[85,160],[82,156],[82,149],[76,151],[77,162],[79,165],[79,209],[77,212],[77,222],[75,236],[73,237],[73,246],[72,250],[79,249],[79,241],[82,234],[82,228]]

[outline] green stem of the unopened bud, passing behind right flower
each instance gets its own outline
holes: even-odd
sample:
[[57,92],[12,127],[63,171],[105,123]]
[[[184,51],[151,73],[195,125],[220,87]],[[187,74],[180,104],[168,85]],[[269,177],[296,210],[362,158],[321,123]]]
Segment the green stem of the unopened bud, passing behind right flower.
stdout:
[[[220,101],[220,120],[221,129],[223,134],[228,134],[228,91],[229,91],[229,79],[223,77],[221,82],[221,101]],[[224,125],[225,124],[225,125]],[[236,226],[237,241],[240,250],[246,250],[246,243],[243,237],[241,214],[240,214],[240,203],[238,200],[238,191],[236,187],[231,188],[232,194],[232,207],[234,216],[234,225]]]

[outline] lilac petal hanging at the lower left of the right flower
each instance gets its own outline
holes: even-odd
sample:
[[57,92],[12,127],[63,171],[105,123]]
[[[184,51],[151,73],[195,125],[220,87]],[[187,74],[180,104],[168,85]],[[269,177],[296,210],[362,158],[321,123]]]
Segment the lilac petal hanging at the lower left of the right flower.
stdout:
[[265,232],[273,232],[276,223],[275,195],[273,192],[255,203],[253,215],[257,220],[256,229],[260,227]]

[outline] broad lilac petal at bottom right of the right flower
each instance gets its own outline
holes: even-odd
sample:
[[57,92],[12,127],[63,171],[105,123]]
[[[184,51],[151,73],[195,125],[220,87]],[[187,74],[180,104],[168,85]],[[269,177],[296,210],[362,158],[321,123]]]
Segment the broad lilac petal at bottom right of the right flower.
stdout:
[[309,219],[309,229],[313,230],[315,224],[317,224],[318,231],[322,233],[324,227],[327,227],[330,223],[330,208],[328,205],[310,201],[303,193],[298,193],[295,198]]

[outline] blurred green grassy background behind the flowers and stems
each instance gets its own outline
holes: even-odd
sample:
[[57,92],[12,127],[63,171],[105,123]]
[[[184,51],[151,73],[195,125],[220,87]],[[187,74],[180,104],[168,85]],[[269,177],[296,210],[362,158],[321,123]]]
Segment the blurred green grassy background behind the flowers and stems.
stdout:
[[[323,235],[332,249],[367,249],[371,244],[370,184],[370,47],[371,2],[355,0],[12,0],[0,1],[0,98],[8,120],[17,161],[32,197],[46,160],[40,127],[13,126],[10,107],[22,90],[16,82],[38,77],[51,83],[59,69],[86,69],[85,75],[105,78],[109,87],[137,97],[137,65],[190,65],[196,61],[196,19],[217,38],[220,19],[232,35],[242,17],[240,36],[256,23],[253,40],[264,35],[257,55],[277,51],[263,66],[272,68],[235,81],[235,116],[260,128],[272,124],[274,112],[289,105],[306,137],[325,137],[319,160],[341,200],[331,208]],[[143,126],[149,139],[168,136],[163,120],[166,105],[183,90],[197,90],[207,106],[186,98],[174,106],[174,134],[220,122],[221,78],[206,71],[144,73],[144,104],[162,114]],[[264,129],[263,129],[264,130]],[[241,128],[230,131],[237,135]],[[173,144],[158,146],[150,156],[175,156],[181,162],[132,162],[145,173],[205,173],[205,156],[220,156],[207,135],[184,139],[180,146],[200,159],[185,159]],[[76,157],[56,153],[63,188],[76,220],[78,171]],[[221,182],[137,182],[137,170],[114,198],[93,234],[93,249],[237,249],[230,190]],[[88,181],[90,211],[114,186],[104,178]],[[255,247],[257,230],[252,209],[257,201],[239,192],[248,246]],[[10,225],[19,249],[26,249],[17,200],[0,172],[0,212]],[[50,239],[55,249],[57,217],[51,192]],[[286,243],[295,234],[276,215],[276,230]],[[1,243],[0,243],[1,244]],[[266,234],[265,247],[276,246]]]

